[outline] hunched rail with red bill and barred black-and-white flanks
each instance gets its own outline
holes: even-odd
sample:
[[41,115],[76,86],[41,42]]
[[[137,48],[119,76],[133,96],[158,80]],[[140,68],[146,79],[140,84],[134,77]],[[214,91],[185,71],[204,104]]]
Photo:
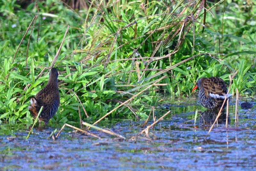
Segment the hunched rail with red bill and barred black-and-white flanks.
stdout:
[[[200,78],[196,82],[196,86],[192,89],[194,91],[199,88],[199,102],[205,108],[216,109],[223,104],[225,97],[230,100],[232,94],[227,94],[228,89],[225,82],[219,77]],[[191,92],[192,92],[191,91]],[[224,106],[227,105],[227,101]]]

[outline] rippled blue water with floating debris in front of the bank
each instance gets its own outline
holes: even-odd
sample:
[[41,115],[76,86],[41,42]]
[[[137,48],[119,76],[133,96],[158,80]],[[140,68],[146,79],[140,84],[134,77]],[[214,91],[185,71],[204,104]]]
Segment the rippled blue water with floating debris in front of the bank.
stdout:
[[[235,126],[235,100],[231,101],[228,127],[222,124],[224,119],[219,120],[206,140],[209,126],[203,123],[211,122],[214,114],[204,112],[196,99],[174,99],[168,107],[171,114],[150,129],[152,141],[141,138],[143,135],[136,142],[129,140],[142,130],[143,121],[104,121],[126,140],[91,129],[101,137],[97,139],[65,128],[55,141],[46,137],[62,125],[34,128],[35,134],[26,140],[27,125],[2,122],[0,170],[255,170],[254,106],[239,108]],[[194,117],[196,108],[205,117],[198,117],[194,127],[194,121],[185,121]],[[7,138],[12,136],[16,138]]]

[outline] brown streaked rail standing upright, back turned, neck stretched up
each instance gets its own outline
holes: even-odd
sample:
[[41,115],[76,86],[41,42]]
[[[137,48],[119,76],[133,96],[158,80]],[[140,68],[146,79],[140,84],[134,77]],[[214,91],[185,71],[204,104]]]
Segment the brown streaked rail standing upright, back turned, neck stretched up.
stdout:
[[43,120],[44,124],[49,122],[60,105],[58,75],[57,68],[52,68],[46,86],[36,94],[36,97],[30,99],[31,105],[28,109],[33,117],[36,118],[41,106],[44,106],[38,117],[39,122]]

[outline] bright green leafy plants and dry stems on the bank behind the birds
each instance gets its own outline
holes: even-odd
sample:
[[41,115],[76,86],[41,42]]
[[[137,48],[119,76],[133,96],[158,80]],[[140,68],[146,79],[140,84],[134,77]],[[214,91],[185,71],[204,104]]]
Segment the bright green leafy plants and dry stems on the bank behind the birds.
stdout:
[[253,95],[255,5],[121,0],[76,11],[58,0],[26,9],[2,1],[0,122],[32,121],[29,99],[46,85],[50,66],[61,74],[52,122],[78,121],[78,113],[146,118],[162,94],[190,95],[204,76],[228,84],[236,70],[231,92]]

